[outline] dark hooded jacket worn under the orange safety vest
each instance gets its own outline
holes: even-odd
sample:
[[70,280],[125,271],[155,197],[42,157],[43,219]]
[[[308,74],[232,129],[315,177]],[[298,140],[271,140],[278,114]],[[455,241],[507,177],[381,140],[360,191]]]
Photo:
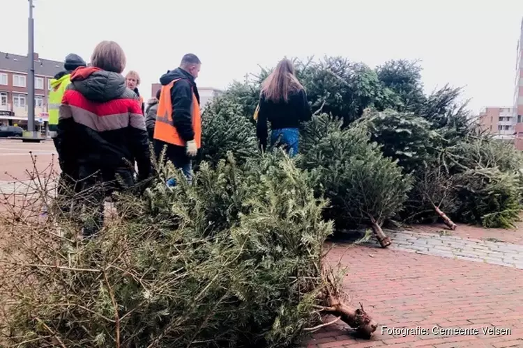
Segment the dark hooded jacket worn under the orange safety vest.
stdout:
[[195,131],[192,129],[192,93],[195,93],[199,104],[198,88],[194,77],[182,68],[163,74],[160,83],[166,86],[175,79],[181,81],[171,88],[172,122],[183,141],[192,141],[195,139]]

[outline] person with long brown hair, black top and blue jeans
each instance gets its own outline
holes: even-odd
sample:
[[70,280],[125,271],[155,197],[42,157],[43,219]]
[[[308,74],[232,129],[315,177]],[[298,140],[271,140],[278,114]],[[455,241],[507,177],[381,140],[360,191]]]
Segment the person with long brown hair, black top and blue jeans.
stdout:
[[305,88],[296,79],[294,64],[287,58],[261,84],[257,137],[266,150],[271,123],[271,145],[282,145],[291,157],[298,153],[300,122],[312,117]]

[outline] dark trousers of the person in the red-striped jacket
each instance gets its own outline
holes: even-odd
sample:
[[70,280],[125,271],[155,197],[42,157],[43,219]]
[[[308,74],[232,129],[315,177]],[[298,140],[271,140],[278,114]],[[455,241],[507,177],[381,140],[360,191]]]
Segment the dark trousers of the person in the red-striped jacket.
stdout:
[[82,191],[77,202],[82,207],[84,237],[96,235],[103,227],[105,198],[114,191],[125,191],[135,184],[129,168],[96,169],[79,167],[79,184]]

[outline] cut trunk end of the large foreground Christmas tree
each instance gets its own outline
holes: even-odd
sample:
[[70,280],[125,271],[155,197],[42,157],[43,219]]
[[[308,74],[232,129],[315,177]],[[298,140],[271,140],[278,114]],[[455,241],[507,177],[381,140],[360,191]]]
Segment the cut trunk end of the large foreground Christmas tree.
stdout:
[[329,307],[325,308],[325,313],[340,317],[342,322],[356,329],[362,338],[370,338],[376,331],[378,324],[367,315],[361,304],[361,308],[354,309],[335,297],[331,297],[328,302]]

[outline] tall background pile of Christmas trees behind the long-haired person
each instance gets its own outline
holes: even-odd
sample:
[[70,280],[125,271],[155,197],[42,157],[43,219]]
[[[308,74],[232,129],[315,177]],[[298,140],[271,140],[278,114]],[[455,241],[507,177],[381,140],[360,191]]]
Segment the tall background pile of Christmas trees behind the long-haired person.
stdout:
[[[455,222],[508,228],[519,220],[522,155],[481,132],[460,88],[425,95],[417,61],[372,69],[326,57],[295,65],[316,113],[301,129],[296,165],[316,177],[315,193],[328,198],[324,216],[336,230],[367,225],[386,246],[387,221],[440,220],[455,229]],[[232,84],[211,104],[206,117],[214,125],[221,118],[215,106],[238,105],[234,117],[246,131],[238,139],[227,134],[234,129],[228,120],[220,139],[255,134],[252,114],[270,71]]]

